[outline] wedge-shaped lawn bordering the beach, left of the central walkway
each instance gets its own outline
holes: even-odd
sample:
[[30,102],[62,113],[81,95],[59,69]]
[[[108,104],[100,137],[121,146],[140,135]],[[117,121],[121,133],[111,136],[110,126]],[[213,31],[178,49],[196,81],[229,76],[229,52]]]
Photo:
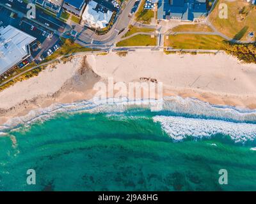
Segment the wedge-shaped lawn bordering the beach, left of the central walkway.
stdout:
[[151,38],[147,34],[138,34],[127,40],[122,40],[116,43],[117,47],[126,47],[126,46],[156,46],[156,36]]

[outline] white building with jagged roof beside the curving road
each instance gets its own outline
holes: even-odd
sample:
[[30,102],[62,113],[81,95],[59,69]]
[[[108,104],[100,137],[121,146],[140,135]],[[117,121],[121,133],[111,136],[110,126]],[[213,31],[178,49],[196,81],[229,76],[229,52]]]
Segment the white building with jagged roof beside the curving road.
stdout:
[[89,27],[104,28],[109,24],[113,11],[109,11],[106,7],[96,3],[95,1],[90,1],[82,15],[84,24]]

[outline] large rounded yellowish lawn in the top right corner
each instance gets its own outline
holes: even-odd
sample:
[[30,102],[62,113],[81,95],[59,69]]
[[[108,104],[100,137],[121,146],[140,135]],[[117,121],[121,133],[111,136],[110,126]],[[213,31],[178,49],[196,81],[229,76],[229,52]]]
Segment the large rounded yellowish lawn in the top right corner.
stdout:
[[[228,6],[228,18],[219,17],[219,4],[225,3]],[[214,10],[209,16],[212,25],[221,33],[236,40],[247,39],[248,33],[256,32],[256,6],[244,0],[225,1],[218,0]]]

